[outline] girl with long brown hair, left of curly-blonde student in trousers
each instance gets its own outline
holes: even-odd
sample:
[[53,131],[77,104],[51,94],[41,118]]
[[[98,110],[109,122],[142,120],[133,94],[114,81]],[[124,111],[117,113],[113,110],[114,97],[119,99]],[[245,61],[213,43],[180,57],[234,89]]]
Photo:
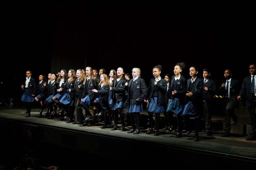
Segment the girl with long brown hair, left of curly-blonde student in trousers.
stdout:
[[61,106],[62,110],[61,119],[60,121],[64,121],[64,110],[67,112],[67,117],[70,116],[69,120],[66,123],[73,122],[74,119],[74,112],[75,112],[75,96],[74,96],[74,87],[75,87],[75,80],[77,79],[75,70],[70,69],[68,72],[69,79],[67,80],[65,89],[66,93],[59,99],[59,106]]

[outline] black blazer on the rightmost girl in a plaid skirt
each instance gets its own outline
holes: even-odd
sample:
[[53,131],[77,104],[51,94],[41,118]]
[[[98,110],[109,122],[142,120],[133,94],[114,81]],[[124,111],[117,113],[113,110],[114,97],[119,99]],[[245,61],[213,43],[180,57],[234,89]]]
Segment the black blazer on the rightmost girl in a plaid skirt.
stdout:
[[[193,105],[201,105],[203,106],[203,79],[196,78],[195,81],[191,84],[191,79],[187,80],[187,92],[191,92],[193,95],[191,97],[188,97],[185,95],[185,101],[191,101]],[[192,90],[189,91],[189,87],[192,85]],[[186,93],[187,93],[186,92]]]

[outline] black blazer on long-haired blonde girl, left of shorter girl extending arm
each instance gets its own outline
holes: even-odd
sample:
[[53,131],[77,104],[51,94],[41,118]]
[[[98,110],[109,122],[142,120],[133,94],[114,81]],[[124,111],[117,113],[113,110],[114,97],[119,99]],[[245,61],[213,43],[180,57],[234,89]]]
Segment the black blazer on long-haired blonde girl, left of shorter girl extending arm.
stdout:
[[[85,78],[84,82],[87,83],[86,81],[87,81],[87,79]],[[80,89],[83,89],[82,98],[85,98],[85,96],[86,96],[86,91],[87,91],[90,100],[94,100],[94,99],[96,99],[96,98],[98,97],[98,94],[95,93],[95,92],[93,92],[92,90],[93,90],[93,89],[98,89],[98,82],[97,82],[96,79],[92,79],[92,78],[90,78],[89,81],[90,81],[90,82],[89,82],[87,88],[85,88],[85,84],[83,84],[83,85],[80,87]]]

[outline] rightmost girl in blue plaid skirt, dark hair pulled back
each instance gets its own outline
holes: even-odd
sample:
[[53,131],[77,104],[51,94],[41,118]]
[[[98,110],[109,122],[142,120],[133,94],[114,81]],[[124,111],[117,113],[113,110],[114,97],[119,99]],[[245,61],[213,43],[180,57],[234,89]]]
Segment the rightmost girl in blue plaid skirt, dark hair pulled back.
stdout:
[[[195,118],[196,128],[194,141],[197,142],[199,141],[198,134],[200,120],[203,116],[203,79],[201,79],[198,68],[195,66],[190,67],[189,74],[191,76],[191,79],[187,80],[187,93],[185,96],[185,106],[182,115],[185,119],[185,123],[188,125],[186,135],[190,134],[191,130],[192,119],[190,119],[190,117]],[[176,135],[176,138],[182,137],[181,131],[181,120],[178,120],[178,133]]]

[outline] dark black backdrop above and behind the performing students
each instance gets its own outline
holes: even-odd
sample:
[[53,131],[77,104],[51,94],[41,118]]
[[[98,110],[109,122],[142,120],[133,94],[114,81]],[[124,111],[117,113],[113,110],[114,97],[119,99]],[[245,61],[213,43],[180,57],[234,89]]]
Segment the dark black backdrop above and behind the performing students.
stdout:
[[[1,1],[4,100],[20,100],[26,70],[32,77],[86,66],[107,73],[141,68],[146,83],[155,65],[173,75],[177,62],[211,68],[217,86],[224,70],[235,79],[255,63],[255,5],[169,1]],[[1,92],[3,93],[3,92]]]

